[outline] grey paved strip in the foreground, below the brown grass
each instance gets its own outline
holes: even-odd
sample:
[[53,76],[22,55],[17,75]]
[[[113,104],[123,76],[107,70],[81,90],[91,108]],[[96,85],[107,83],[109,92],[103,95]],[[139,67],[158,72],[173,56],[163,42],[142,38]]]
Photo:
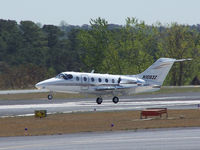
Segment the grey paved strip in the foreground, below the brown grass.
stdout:
[[0,150],[199,150],[200,128],[3,137]]

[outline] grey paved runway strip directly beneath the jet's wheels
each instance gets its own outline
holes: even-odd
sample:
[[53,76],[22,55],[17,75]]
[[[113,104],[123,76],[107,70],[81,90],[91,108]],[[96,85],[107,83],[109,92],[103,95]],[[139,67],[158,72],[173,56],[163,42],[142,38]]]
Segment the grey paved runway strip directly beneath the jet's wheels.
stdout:
[[33,115],[35,110],[45,109],[48,113],[68,113],[77,111],[113,111],[141,110],[149,107],[167,107],[169,109],[194,109],[200,104],[200,93],[176,93],[158,95],[135,95],[120,97],[114,104],[111,98],[105,98],[97,105],[95,98],[84,99],[47,99],[37,100],[0,100],[0,117]]

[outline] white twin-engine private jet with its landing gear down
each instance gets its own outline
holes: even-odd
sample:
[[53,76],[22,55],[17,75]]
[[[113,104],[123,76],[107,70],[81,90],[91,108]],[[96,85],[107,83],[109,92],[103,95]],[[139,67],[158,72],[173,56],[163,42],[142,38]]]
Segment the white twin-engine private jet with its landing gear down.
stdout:
[[62,72],[56,77],[35,85],[38,89],[48,89],[48,99],[53,92],[87,93],[98,95],[96,102],[103,102],[102,96],[113,95],[112,101],[119,102],[118,95],[153,92],[161,88],[174,62],[191,59],[160,58],[144,72],[137,75],[111,75],[84,72]]

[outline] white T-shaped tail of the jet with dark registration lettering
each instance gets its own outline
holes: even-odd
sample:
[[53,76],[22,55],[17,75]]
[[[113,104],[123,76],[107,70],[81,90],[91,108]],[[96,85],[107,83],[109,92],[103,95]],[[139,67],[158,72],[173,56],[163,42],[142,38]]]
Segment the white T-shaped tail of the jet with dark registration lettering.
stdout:
[[149,68],[147,68],[137,77],[143,79],[146,84],[154,84],[161,86],[169,73],[174,62],[185,61],[191,59],[172,59],[172,58],[160,58],[155,63],[153,63]]

